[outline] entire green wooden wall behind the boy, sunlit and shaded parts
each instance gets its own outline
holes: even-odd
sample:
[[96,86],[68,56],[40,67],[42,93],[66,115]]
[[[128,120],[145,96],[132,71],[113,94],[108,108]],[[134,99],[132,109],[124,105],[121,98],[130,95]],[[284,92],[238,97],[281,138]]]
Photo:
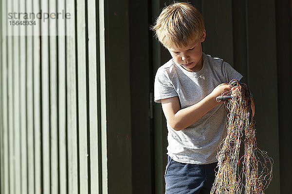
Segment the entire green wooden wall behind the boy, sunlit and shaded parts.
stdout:
[[[183,1],[183,0],[182,0]],[[203,51],[243,76],[267,194],[291,193],[291,0],[190,0]],[[168,0],[0,0],[0,193],[163,194],[167,129],[153,102],[170,55],[150,26]],[[62,12],[11,26],[9,12]]]

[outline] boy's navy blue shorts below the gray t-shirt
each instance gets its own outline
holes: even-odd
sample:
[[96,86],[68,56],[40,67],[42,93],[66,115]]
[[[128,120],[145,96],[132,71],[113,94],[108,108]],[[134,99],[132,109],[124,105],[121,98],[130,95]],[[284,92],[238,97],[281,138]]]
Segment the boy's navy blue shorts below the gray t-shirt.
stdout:
[[168,156],[165,169],[165,194],[210,194],[218,162],[187,164]]

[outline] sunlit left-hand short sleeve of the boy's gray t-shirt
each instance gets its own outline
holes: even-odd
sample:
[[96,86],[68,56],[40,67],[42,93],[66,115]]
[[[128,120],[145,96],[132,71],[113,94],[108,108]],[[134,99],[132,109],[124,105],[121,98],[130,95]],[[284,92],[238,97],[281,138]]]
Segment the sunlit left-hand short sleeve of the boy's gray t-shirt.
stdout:
[[161,99],[175,96],[178,96],[178,94],[164,71],[164,68],[159,68],[154,80],[154,101],[161,102]]

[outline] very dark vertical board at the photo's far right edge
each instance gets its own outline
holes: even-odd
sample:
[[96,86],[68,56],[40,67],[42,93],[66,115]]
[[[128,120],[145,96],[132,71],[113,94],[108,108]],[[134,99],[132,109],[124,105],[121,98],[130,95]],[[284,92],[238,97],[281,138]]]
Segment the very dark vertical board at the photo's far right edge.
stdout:
[[[292,193],[292,1],[275,1],[281,194]],[[290,18],[290,19],[288,19]]]

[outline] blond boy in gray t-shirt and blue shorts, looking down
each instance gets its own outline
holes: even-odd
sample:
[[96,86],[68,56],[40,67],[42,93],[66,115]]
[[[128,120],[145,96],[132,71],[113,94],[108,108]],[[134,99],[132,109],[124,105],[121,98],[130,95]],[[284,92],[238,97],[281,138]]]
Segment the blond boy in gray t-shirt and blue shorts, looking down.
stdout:
[[242,76],[221,59],[202,53],[201,13],[188,3],[164,8],[153,27],[172,56],[156,73],[154,100],[167,120],[165,194],[210,194],[226,111],[216,101]]

